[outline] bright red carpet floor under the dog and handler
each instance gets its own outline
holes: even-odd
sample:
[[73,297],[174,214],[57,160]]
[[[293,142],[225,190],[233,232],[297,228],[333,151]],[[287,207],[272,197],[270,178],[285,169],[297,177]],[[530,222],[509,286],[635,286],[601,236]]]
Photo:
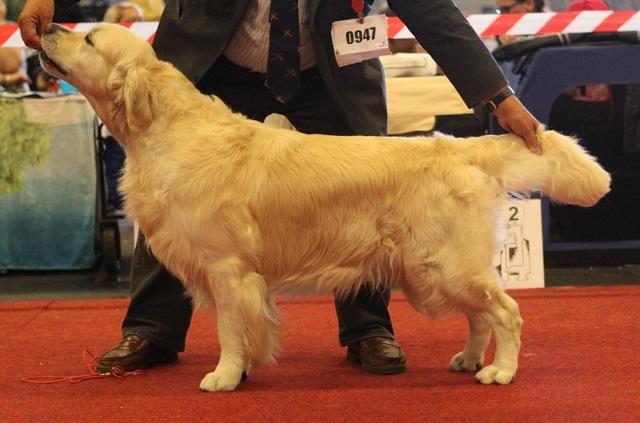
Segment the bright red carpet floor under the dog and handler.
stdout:
[[87,373],[82,352],[119,339],[125,300],[0,303],[2,422],[640,421],[640,286],[513,293],[525,326],[518,377],[483,386],[447,370],[461,316],[429,322],[400,295],[390,310],[407,373],[368,375],[344,360],[330,297],[282,299],[279,365],[239,391],[202,393],[217,360],[210,318],[195,316],[179,363],[123,379],[36,385]]

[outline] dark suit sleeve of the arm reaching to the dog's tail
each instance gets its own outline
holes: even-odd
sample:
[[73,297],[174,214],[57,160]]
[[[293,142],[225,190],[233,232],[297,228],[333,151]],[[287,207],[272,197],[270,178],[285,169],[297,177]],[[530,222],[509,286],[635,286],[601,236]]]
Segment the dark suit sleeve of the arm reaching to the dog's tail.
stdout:
[[507,84],[491,53],[451,0],[388,0],[388,4],[468,107]]

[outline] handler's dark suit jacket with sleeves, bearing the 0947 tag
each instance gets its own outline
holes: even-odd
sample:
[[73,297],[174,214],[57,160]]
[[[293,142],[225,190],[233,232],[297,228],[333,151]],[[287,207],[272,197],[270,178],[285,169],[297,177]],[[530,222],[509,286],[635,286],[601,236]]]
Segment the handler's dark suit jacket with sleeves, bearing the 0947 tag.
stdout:
[[[342,68],[335,63],[331,24],[355,17],[351,0],[306,1],[318,67],[342,114],[357,134],[384,133],[386,106],[380,62],[368,60]],[[506,85],[493,57],[452,0],[388,3],[469,107]],[[167,0],[154,41],[158,56],[197,84],[222,54],[248,5],[249,0]]]

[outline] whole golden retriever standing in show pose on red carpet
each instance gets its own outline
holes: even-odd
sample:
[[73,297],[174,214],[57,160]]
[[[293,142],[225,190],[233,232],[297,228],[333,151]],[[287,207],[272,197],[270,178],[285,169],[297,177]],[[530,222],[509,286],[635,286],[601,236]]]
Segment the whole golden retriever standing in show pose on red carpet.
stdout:
[[[508,192],[590,206],[610,178],[575,140],[539,131],[455,139],[305,135],[202,95],[117,25],[50,26],[41,61],[77,87],[122,143],[126,209],[197,304],[215,307],[220,359],[200,384],[230,391],[278,345],[274,295],[397,284],[431,318],[462,312],[449,364],[510,383],[522,319],[492,257]],[[493,363],[482,367],[491,334]]]

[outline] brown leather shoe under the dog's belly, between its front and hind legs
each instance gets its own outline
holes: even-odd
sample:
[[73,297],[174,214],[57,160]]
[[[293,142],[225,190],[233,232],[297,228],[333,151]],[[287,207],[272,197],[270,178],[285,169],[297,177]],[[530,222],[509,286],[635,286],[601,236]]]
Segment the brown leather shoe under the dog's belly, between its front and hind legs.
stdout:
[[369,373],[390,375],[407,370],[404,351],[393,338],[374,336],[353,343],[347,348],[347,360]]

